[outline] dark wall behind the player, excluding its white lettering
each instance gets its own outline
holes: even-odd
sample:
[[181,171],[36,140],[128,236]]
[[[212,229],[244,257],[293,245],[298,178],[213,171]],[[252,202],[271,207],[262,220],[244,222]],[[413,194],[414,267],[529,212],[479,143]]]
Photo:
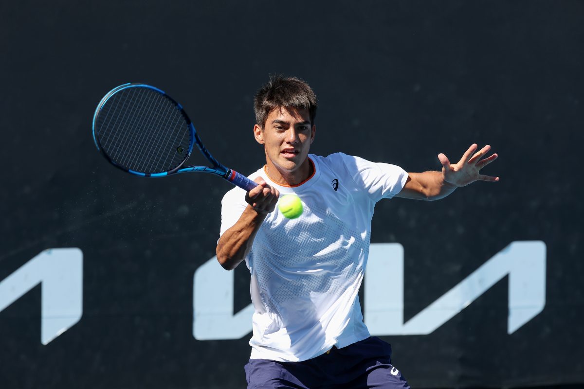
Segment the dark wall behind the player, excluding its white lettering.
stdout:
[[[186,107],[213,154],[251,173],[253,94],[270,73],[319,97],[312,152],[439,169],[499,159],[439,202],[380,202],[372,241],[405,249],[405,319],[511,241],[547,245],[544,311],[506,332],[499,282],[430,335],[388,337],[413,387],[584,385],[584,2],[3,2],[0,280],[41,250],[84,253],[84,313],[39,342],[40,287],[0,313],[0,387],[239,388],[249,336],[192,336],[193,273],[214,255],[211,176],[124,175],[93,110],[140,81]],[[236,307],[249,303],[236,270]]]

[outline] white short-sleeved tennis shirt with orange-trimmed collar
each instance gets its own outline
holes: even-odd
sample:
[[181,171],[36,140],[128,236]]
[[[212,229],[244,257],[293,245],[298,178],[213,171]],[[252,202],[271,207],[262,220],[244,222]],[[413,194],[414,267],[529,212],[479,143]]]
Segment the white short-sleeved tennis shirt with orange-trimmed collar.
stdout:
[[[308,156],[314,174],[295,187],[274,183],[262,169],[251,174],[280,195],[300,197],[304,212],[266,216],[246,265],[251,272],[252,359],[297,362],[369,337],[357,292],[369,254],[373,208],[404,187],[408,173],[336,153]],[[237,222],[247,203],[233,188],[221,202],[221,232]]]

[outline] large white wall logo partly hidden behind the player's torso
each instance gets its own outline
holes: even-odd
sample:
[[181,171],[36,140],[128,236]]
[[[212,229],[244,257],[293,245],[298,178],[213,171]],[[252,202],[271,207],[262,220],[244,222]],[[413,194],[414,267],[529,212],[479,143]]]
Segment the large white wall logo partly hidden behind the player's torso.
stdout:
[[[544,309],[545,254],[543,241],[514,241],[404,323],[404,247],[373,243],[364,285],[365,323],[371,335],[430,334],[509,275],[507,333],[512,334]],[[194,338],[239,339],[251,332],[252,304],[235,314],[233,304],[234,272],[213,257],[194,273]]]

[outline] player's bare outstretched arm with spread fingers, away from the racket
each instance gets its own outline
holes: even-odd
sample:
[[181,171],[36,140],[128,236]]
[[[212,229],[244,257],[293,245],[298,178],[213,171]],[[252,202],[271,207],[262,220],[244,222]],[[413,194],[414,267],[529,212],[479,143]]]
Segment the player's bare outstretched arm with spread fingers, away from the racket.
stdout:
[[456,188],[465,187],[474,183],[474,181],[499,181],[499,177],[485,176],[479,173],[483,167],[493,162],[498,155],[493,154],[488,158],[481,159],[489,152],[491,146],[486,145],[476,152],[477,148],[476,144],[470,146],[460,161],[455,164],[450,164],[446,155],[440,153],[438,159],[442,163],[441,172],[408,173],[409,177],[404,188],[395,196],[431,201],[444,198],[454,192]]

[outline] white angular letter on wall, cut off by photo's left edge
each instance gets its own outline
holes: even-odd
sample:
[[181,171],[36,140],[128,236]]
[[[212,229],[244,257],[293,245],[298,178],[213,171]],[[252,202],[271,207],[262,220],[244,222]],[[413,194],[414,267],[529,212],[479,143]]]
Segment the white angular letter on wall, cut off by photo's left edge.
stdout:
[[52,248],[0,282],[0,312],[41,284],[40,341],[47,345],[75,325],[83,312],[83,253]]

